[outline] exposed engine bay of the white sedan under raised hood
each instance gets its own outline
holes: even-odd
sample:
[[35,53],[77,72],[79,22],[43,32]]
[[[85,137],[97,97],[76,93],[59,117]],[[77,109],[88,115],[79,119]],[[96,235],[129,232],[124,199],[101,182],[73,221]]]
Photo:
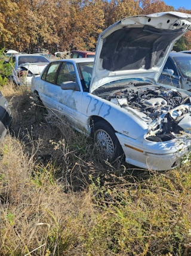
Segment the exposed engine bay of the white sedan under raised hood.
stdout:
[[191,96],[175,88],[155,85],[116,86],[96,90],[96,95],[146,122],[150,141],[167,141],[191,133]]

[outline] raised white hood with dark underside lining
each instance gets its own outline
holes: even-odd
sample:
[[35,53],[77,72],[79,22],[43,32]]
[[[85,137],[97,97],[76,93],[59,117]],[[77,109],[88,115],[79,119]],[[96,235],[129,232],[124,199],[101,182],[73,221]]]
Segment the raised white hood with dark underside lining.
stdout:
[[191,29],[191,15],[168,12],[127,17],[98,39],[90,92],[123,77],[156,82],[176,40]]

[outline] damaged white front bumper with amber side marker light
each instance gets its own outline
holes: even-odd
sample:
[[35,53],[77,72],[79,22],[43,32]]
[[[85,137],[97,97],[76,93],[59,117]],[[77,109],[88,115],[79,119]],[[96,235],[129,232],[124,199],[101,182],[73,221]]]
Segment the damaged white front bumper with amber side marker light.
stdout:
[[180,165],[181,159],[190,152],[188,138],[175,138],[164,142],[134,140],[116,133],[125,153],[125,161],[150,170],[171,170]]

